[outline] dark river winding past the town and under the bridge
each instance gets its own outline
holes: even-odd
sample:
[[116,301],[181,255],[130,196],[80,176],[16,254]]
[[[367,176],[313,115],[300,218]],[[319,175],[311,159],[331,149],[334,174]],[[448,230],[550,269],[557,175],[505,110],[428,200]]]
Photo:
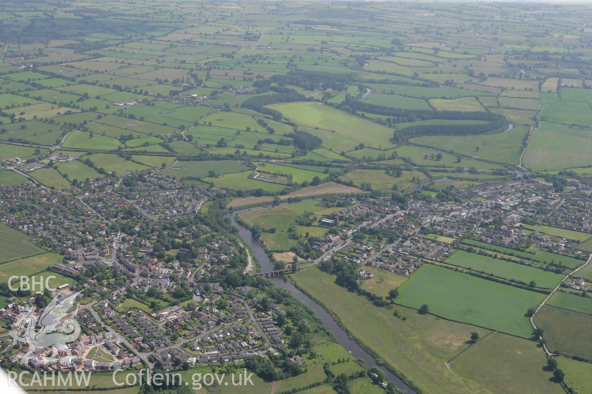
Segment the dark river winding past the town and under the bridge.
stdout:
[[[303,201],[310,201],[310,200],[313,200],[313,198],[307,198],[306,200],[303,200]],[[289,203],[281,203],[280,205],[286,205],[286,204],[289,204]],[[264,207],[269,207],[269,206],[259,206],[259,207],[252,207],[252,208],[248,208],[248,209],[236,210],[236,211],[232,211],[230,213],[224,214],[224,217],[228,217],[230,219],[230,222],[239,229],[239,235],[242,237],[244,242],[248,243],[249,246],[251,247],[251,249],[253,249],[253,255],[255,255],[255,257],[258,259],[259,263],[261,264],[261,271],[271,271],[272,269],[274,269],[274,263],[272,263],[272,261],[269,259],[267,253],[265,253],[265,250],[263,250],[263,248],[259,245],[259,242],[257,242],[257,240],[251,235],[251,232],[249,231],[249,229],[247,229],[242,224],[239,224],[236,222],[236,220],[234,220],[234,217],[239,213],[249,211],[249,210],[261,209]],[[399,379],[397,376],[395,376],[394,373],[390,372],[389,370],[385,369],[384,367],[379,366],[376,363],[376,361],[374,360],[374,357],[372,357],[371,354],[369,354],[366,350],[362,349],[362,347],[359,346],[354,340],[350,339],[348,334],[346,334],[345,331],[343,331],[342,328],[339,327],[339,325],[336,323],[336,321],[333,320],[333,317],[331,317],[331,315],[329,313],[327,313],[327,311],[325,311],[323,308],[321,308],[320,305],[318,305],[312,299],[308,298],[307,295],[305,295],[303,292],[301,292],[300,290],[295,288],[294,285],[292,285],[290,282],[284,281],[284,279],[281,276],[276,276],[276,277],[272,278],[272,281],[274,281],[274,284],[276,286],[284,288],[284,289],[288,289],[289,291],[291,291],[292,294],[294,294],[294,297],[296,297],[298,300],[302,301],[308,307],[312,308],[315,312],[317,312],[317,315],[318,315],[318,317],[321,318],[323,325],[325,327],[329,327],[330,330],[333,331],[337,341],[339,341],[339,343],[342,344],[342,346],[346,350],[348,350],[349,353],[351,353],[353,357],[356,357],[358,359],[363,359],[368,367],[374,367],[374,366],[379,367],[381,370],[383,370],[387,374],[387,379],[389,381],[395,382],[397,387],[400,390],[402,390],[405,394],[414,394],[415,393],[415,390],[413,390],[409,386],[407,386],[401,379]],[[364,317],[361,316],[360,318],[364,318]],[[385,333],[385,334],[387,334],[387,333]]]

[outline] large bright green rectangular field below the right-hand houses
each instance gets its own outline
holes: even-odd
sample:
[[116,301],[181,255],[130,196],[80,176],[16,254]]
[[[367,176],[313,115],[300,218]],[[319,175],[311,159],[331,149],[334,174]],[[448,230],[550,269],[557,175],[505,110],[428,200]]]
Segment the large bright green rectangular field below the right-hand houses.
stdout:
[[399,292],[398,304],[412,308],[427,304],[436,315],[525,338],[532,329],[524,314],[545,298],[434,265],[417,269]]

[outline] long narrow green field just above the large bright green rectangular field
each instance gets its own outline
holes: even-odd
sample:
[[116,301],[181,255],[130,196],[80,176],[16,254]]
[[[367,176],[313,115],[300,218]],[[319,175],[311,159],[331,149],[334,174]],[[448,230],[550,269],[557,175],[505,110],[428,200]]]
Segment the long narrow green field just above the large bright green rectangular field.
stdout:
[[469,268],[473,271],[493,274],[499,278],[514,279],[525,284],[535,281],[540,288],[552,289],[561,282],[563,275],[550,271],[543,271],[539,268],[511,263],[509,261],[494,259],[489,256],[478,255],[477,253],[456,250],[452,256],[445,260],[446,263]]

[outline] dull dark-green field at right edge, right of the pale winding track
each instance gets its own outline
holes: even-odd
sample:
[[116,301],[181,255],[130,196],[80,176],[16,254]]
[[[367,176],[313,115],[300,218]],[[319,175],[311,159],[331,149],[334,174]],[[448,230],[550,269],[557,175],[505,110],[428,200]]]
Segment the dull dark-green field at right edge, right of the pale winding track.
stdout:
[[592,315],[545,305],[535,315],[549,351],[592,359]]

